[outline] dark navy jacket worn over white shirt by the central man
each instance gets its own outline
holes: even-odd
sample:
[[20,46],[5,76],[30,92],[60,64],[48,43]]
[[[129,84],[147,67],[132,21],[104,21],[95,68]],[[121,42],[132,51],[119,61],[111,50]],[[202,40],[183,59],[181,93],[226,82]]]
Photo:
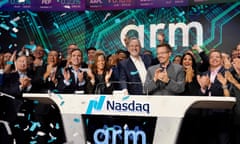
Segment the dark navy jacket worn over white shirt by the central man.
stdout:
[[[148,55],[141,55],[142,61],[146,70],[151,65],[151,57]],[[120,87],[121,89],[127,89],[129,94],[141,95],[143,94],[143,84],[141,81],[139,72],[134,65],[131,58],[127,58],[119,63],[120,69]]]

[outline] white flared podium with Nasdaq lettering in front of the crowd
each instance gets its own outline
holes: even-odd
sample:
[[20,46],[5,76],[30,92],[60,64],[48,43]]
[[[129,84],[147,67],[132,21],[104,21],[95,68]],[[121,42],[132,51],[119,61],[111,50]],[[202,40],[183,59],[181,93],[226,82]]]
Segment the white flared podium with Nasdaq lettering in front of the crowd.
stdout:
[[[144,96],[144,95],[79,95],[79,94],[32,94],[25,93],[26,99],[38,100],[42,103],[55,103],[61,113],[63,120],[64,132],[67,143],[84,144],[87,142],[87,136],[91,135],[94,143],[141,143],[151,141],[153,144],[174,144],[176,142],[181,121],[185,112],[190,108],[210,108],[210,109],[232,109],[235,104],[233,97],[208,97],[208,96]],[[87,134],[86,123],[96,116],[106,116],[104,121],[114,117],[119,120],[131,118],[133,122],[126,124],[122,129],[114,130],[113,127],[108,129],[92,130],[92,134]],[[86,118],[87,117],[87,118]],[[152,130],[152,138],[149,137],[148,128],[141,129],[148,121],[137,123],[137,119],[156,118]],[[138,125],[137,130],[129,125],[134,125],[134,119]],[[96,121],[95,119],[95,121]],[[101,122],[104,123],[104,122]],[[152,124],[150,124],[152,125]],[[106,126],[106,125],[105,125]],[[127,128],[126,128],[127,127]],[[140,128],[139,128],[140,127]],[[145,125],[149,127],[149,125]],[[150,129],[150,128],[149,128]],[[111,131],[108,132],[108,131]],[[103,136],[102,138],[99,138]],[[130,137],[130,138],[129,138]],[[108,140],[110,138],[110,140]],[[149,140],[152,139],[152,140]],[[111,141],[111,142],[109,142]]]

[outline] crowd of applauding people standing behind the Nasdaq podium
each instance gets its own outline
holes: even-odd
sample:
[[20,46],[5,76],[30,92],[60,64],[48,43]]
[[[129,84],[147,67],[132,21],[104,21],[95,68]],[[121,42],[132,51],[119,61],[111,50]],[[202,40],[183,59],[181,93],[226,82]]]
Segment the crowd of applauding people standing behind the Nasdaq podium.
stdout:
[[[83,61],[85,53],[76,44],[68,46],[65,57],[57,50],[50,50],[46,60],[40,45],[33,51],[23,48],[20,52],[1,53],[0,90],[20,101],[24,101],[23,93],[112,94],[116,90],[126,95],[232,96],[237,99],[234,116],[229,118],[234,128],[228,131],[223,127],[221,133],[218,131],[220,134],[214,131],[217,137],[214,139],[186,142],[186,138],[184,143],[239,144],[238,136],[222,135],[240,131],[240,44],[231,54],[218,49],[206,52],[195,45],[171,61],[171,46],[162,40],[164,35],[158,37],[156,58],[149,51],[142,53],[140,41],[135,37],[126,40],[127,50],[109,56],[94,47],[88,48],[87,62]],[[51,111],[49,106],[42,107]],[[222,111],[213,113],[221,115]],[[209,135],[207,132],[206,136]]]

